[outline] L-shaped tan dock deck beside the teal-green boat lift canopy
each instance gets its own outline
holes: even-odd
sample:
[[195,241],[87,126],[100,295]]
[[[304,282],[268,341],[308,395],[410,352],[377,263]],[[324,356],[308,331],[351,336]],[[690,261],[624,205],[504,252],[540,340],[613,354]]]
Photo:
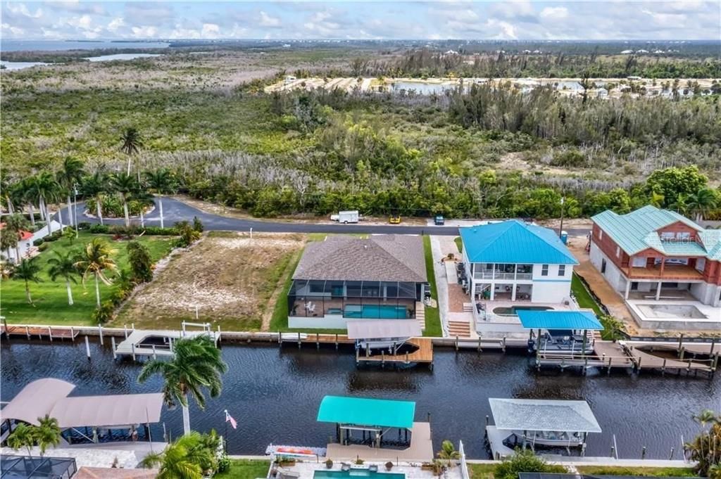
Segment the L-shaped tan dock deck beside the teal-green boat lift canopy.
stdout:
[[361,446],[359,444],[328,444],[326,457],[334,461],[355,461],[358,457],[366,461],[431,461],[433,441],[430,437],[430,423],[414,422],[411,429],[410,447],[407,449],[384,449],[383,447]]

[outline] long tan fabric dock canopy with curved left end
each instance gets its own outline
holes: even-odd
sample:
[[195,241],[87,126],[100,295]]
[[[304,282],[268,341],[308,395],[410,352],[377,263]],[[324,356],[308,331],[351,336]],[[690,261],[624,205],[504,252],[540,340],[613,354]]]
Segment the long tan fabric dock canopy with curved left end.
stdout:
[[46,414],[58,420],[61,429],[71,427],[115,427],[160,421],[161,393],[76,396],[69,382],[45,378],[30,382],[2,408],[3,419],[37,425]]

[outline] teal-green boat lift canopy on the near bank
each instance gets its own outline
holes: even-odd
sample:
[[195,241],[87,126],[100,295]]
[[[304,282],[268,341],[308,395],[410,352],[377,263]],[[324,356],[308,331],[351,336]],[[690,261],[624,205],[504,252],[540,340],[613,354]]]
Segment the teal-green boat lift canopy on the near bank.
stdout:
[[325,396],[317,421],[376,429],[412,429],[414,416],[412,401]]

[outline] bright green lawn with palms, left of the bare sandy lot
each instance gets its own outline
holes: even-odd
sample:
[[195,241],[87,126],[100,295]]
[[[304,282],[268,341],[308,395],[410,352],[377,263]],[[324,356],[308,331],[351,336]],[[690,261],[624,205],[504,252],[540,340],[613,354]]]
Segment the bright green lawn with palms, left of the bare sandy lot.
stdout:
[[[35,261],[42,267],[40,273],[42,282],[30,284],[32,304],[27,303],[25,298],[25,282],[14,279],[2,280],[2,307],[0,314],[4,315],[8,323],[25,324],[58,324],[58,325],[90,325],[92,324],[92,313],[95,308],[95,286],[94,280],[89,278],[86,286],[81,284],[78,277],[78,284],[72,285],[73,299],[75,304],[68,305],[68,294],[65,282],[58,279],[57,282],[50,281],[48,276],[48,259],[55,256],[53,251],[68,251],[82,249],[83,245],[92,238],[104,238],[112,249],[117,252],[113,255],[118,267],[128,267],[128,252],[125,248],[127,241],[113,241],[110,235],[93,235],[81,232],[79,238],[70,243],[67,239],[61,238],[58,241],[47,243],[48,249],[40,253]],[[172,249],[172,240],[168,236],[142,236],[137,238],[150,250],[154,261],[166,256]],[[100,284],[101,300],[106,300],[115,286]]]

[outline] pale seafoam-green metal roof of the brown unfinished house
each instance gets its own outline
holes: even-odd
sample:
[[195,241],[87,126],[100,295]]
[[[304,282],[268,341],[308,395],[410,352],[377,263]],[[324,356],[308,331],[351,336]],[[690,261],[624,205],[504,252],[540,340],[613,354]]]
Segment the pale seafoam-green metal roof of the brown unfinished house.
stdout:
[[[652,248],[665,256],[706,256],[709,259],[721,259],[721,246],[718,246],[721,233],[704,230],[675,211],[660,210],[647,205],[625,215],[617,215],[611,210],[606,210],[593,216],[591,220],[629,255]],[[663,241],[658,230],[678,222],[698,231],[701,243]]]

